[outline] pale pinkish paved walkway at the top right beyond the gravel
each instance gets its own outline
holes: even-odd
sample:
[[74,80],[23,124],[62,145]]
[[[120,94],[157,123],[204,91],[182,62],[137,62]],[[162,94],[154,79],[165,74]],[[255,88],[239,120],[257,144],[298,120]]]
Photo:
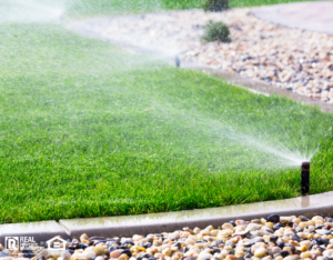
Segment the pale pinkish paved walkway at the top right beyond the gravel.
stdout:
[[333,1],[284,3],[254,10],[258,18],[290,28],[333,34]]

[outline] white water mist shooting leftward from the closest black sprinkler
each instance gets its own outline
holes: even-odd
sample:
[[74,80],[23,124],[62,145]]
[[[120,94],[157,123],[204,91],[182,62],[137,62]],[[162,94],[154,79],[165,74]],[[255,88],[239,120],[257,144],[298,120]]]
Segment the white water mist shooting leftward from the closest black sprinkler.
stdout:
[[[159,104],[154,106],[155,108],[160,107]],[[212,119],[206,114],[201,114],[199,111],[181,111],[171,106],[164,106],[163,109],[160,107],[160,113],[164,113],[165,118],[173,118],[171,121],[174,121],[174,123],[178,120],[189,128],[195,128],[206,137],[214,137],[221,148],[228,142],[248,147],[249,151],[260,161],[256,164],[253,161],[243,162],[243,164],[251,166],[251,169],[300,167],[303,161],[311,161],[311,158],[319,149],[320,139],[327,134],[325,131],[321,131],[321,133],[316,133],[311,138],[305,138],[303,131],[306,130],[300,127],[301,143],[297,144],[296,141],[292,140],[292,133],[289,133],[286,129],[284,129],[283,133],[285,136],[284,141],[280,141],[273,140],[273,133],[266,132],[268,129],[261,129],[258,132],[253,129],[251,130],[251,126],[242,124],[242,122],[239,122],[239,127],[234,127],[223,118]],[[244,150],[242,152],[246,153],[249,151]],[[234,160],[238,159],[234,158]],[[222,160],[219,168],[222,169],[223,164]]]

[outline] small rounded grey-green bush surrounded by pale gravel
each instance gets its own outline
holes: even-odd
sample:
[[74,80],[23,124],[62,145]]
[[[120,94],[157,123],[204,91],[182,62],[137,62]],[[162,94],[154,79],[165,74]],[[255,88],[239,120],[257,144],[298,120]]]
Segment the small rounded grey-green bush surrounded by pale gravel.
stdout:
[[223,22],[214,22],[210,20],[203,27],[203,29],[204,36],[202,37],[202,39],[205,41],[231,42],[229,28]]

